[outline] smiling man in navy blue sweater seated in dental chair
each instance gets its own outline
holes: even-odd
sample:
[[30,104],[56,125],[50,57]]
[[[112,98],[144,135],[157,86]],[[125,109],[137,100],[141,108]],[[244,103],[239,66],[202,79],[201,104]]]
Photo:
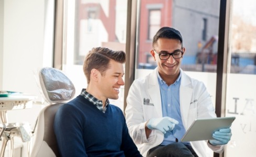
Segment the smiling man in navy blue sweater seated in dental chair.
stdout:
[[61,156],[142,156],[120,108],[110,105],[124,85],[124,51],[93,48],[83,70],[87,88],[59,108],[54,120]]

